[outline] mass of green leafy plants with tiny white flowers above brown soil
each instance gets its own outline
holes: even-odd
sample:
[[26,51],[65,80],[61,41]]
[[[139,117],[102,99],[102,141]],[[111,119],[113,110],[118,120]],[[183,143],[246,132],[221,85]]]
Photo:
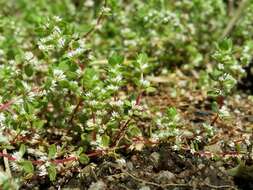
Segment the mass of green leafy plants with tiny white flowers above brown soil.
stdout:
[[[103,3],[0,0],[0,143],[20,177],[55,181],[62,167],[86,165],[90,155],[115,153],[136,139],[180,144],[176,108],[151,117],[142,99],[156,92],[149,75],[205,68],[215,48],[212,80],[202,71],[200,86],[211,84],[216,98],[228,96],[245,74],[252,3],[231,40],[219,43],[231,19],[223,0]],[[3,189],[14,181],[0,173]]]

